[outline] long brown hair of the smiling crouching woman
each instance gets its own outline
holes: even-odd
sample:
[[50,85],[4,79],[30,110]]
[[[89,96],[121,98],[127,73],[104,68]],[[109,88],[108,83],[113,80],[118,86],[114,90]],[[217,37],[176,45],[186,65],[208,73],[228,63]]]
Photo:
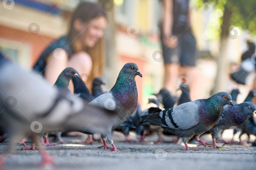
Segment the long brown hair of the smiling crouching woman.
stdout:
[[[74,41],[76,37],[79,35],[79,33],[74,29],[74,22],[76,19],[81,19],[82,22],[88,22],[91,19],[95,19],[97,17],[103,16],[107,19],[106,12],[102,9],[101,5],[96,3],[89,3],[89,2],[83,2],[78,5],[76,10],[74,11],[72,15],[72,19],[70,21],[70,29],[68,33],[69,39],[71,42],[71,48],[72,53],[85,51],[87,52],[91,58],[92,58],[92,72],[90,74],[91,80],[94,79],[94,77],[101,76],[102,69],[104,67],[104,58],[105,58],[105,45],[103,38],[99,39],[94,47],[81,47],[81,44],[77,43],[77,41]],[[81,73],[80,73],[81,74]],[[88,84],[89,89],[91,88],[92,81]]]

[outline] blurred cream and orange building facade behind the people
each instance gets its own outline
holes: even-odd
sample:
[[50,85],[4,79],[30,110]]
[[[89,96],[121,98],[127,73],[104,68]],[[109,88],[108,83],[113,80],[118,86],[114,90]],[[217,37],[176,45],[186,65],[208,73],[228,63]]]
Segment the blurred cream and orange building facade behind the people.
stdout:
[[[59,36],[64,35],[72,11],[79,0],[2,0],[0,4],[0,50],[15,63],[31,68],[41,52]],[[109,90],[115,83],[119,70],[125,63],[137,63],[143,78],[137,76],[139,103],[145,106],[147,97],[158,93],[163,86],[163,58],[160,44],[159,22],[162,18],[162,1],[159,0],[91,0],[101,3],[108,14],[105,31],[106,64],[103,80]],[[225,60],[218,67],[223,9],[218,5],[202,6],[204,1],[191,1],[192,30],[197,40],[197,71],[200,77],[198,90],[192,93],[199,98],[211,95],[214,87],[219,91],[230,92],[235,87],[229,74],[236,63],[240,62],[242,52],[247,50],[246,40],[249,31],[236,27],[235,38],[225,41]],[[199,4],[199,5],[198,5]],[[253,11],[252,11],[253,12]],[[255,12],[255,11],[254,11]],[[255,39],[252,40],[255,41]],[[218,70],[221,82],[217,82]],[[252,76],[253,77],[253,76]],[[253,78],[252,78],[253,79]],[[238,103],[243,101],[252,87],[241,85],[242,94]],[[178,87],[177,82],[177,87]]]

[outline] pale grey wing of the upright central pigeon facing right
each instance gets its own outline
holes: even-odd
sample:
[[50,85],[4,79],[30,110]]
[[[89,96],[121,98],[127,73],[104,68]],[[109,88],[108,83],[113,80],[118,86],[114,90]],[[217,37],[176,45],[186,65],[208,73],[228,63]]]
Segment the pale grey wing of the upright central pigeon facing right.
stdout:
[[116,108],[115,98],[110,92],[102,94],[101,96],[95,98],[93,101],[89,102],[89,104],[104,107],[108,110],[114,110]]

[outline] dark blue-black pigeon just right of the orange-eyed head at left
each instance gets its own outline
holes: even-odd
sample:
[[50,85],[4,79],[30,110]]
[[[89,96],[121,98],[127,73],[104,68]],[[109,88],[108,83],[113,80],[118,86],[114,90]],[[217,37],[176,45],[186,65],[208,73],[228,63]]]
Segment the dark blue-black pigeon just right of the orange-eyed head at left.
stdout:
[[91,102],[93,101],[95,98],[91,95],[90,91],[88,90],[88,88],[86,87],[85,83],[83,82],[83,80],[77,79],[77,78],[72,78],[72,82],[74,85],[74,94],[81,97],[84,101]]

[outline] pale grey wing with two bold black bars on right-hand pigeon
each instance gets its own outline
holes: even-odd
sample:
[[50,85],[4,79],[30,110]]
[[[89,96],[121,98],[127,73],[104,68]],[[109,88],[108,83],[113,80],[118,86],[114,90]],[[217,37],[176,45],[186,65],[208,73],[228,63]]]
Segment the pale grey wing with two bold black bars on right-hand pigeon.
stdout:
[[163,110],[159,115],[169,128],[186,130],[198,124],[199,107],[196,102],[191,101]]

